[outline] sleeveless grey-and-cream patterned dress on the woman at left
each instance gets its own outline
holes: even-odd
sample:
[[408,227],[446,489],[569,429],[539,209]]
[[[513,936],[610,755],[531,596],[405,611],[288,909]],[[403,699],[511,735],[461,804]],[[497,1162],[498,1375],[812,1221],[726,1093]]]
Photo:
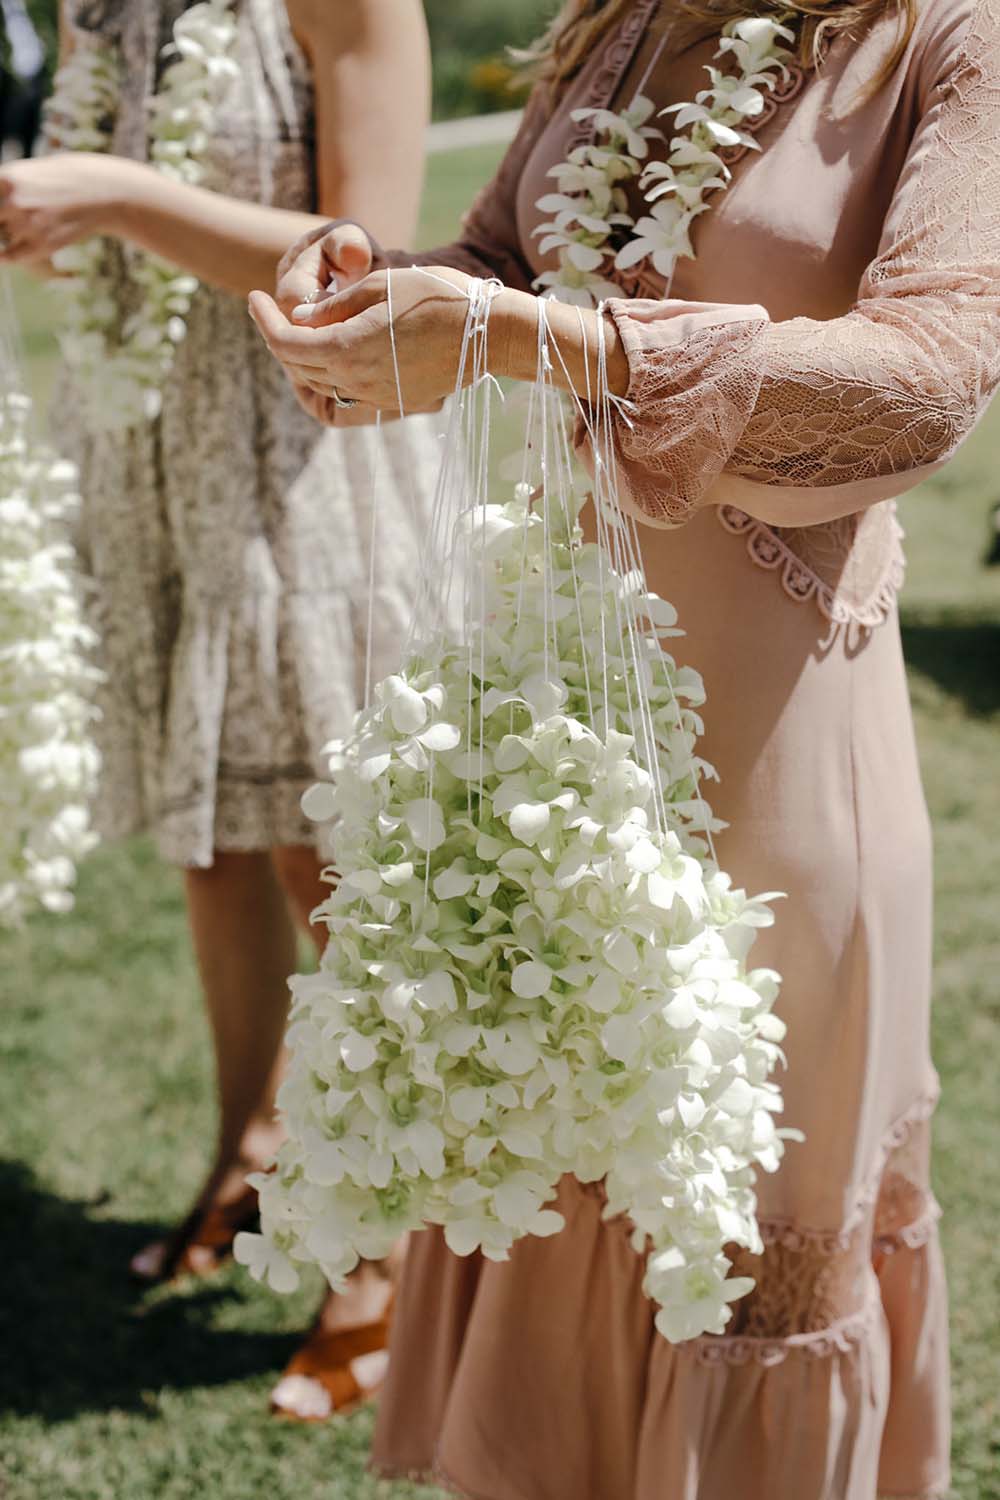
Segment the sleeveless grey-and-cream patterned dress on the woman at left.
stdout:
[[[123,156],[145,158],[160,51],[183,9],[67,6],[81,45],[121,50]],[[240,78],[207,182],[312,210],[313,90],[283,0],[241,0],[237,18]],[[318,428],[243,298],[202,286],[157,422],[88,434],[70,386],[57,428],[82,471],[79,550],[106,670],[102,832],[151,830],[184,866],[211,864],[213,849],[313,843],[300,796],[361,702],[366,670],[391,670],[405,638],[433,423],[381,436]]]

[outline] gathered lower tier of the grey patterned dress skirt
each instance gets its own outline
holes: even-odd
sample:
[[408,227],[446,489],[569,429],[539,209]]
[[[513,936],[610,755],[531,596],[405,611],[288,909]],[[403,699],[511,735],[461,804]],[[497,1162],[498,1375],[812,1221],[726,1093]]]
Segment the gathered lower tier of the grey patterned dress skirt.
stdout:
[[[300,802],[363,699],[367,608],[340,590],[283,588],[264,548],[258,564],[241,598],[180,603],[154,676],[109,672],[105,837],[150,831],[166,861],[195,868],[214,850],[318,844]],[[379,591],[373,680],[394,668],[406,621],[403,592]]]

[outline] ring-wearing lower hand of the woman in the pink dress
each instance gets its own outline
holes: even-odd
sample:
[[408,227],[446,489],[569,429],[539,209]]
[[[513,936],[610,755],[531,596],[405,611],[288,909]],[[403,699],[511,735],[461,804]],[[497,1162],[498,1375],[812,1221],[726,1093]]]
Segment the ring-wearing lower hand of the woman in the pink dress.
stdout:
[[[294,322],[264,292],[252,294],[250,315],[319,420],[331,423],[345,410],[336,396],[367,408],[367,420],[375,411],[399,416],[400,393],[405,414],[438,411],[457,380],[468,284],[463,272],[441,266],[375,272],[295,309]],[[303,393],[315,399],[306,402]]]

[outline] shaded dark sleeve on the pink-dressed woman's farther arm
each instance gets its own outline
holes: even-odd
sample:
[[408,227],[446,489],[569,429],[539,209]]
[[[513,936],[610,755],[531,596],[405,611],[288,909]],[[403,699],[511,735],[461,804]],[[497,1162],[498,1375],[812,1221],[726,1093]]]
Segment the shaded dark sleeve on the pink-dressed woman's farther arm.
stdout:
[[549,122],[547,93],[535,87],[496,176],[483,188],[462,220],[453,244],[414,255],[390,250],[390,266],[453,266],[469,276],[498,276],[505,286],[531,291],[534,272],[528,266],[517,232],[517,183],[538,135]]

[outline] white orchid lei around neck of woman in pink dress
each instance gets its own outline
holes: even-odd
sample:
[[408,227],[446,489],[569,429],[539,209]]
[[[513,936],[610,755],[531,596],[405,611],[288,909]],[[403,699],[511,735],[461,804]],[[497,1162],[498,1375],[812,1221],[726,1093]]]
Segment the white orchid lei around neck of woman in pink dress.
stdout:
[[[663,135],[649,124],[655,105],[642,93],[619,114],[574,110],[573,118],[589,120],[597,140],[550,168],[558,190],[540,198],[538,207],[555,218],[534,232],[543,236],[541,254],[558,250],[559,264],[543,272],[535,286],[561,302],[591,308],[619,296],[609,280],[612,267],[624,272],[649,260],[670,280],[678,260],[693,255],[691,225],[711,207],[708,196],[730,182],[721,152],[759,148],[745,124],[763,112],[778,76],[787,76],[795,60],[787,44],[793,40],[795,33],[772,18],[730,21],[715,62],[732,57],[736,72],[709,64],[709,87],[694,104],[661,111],[675,116],[678,132],[666,160],[648,159],[651,141]],[[649,213],[637,222],[627,196],[636,178],[649,204]]]

